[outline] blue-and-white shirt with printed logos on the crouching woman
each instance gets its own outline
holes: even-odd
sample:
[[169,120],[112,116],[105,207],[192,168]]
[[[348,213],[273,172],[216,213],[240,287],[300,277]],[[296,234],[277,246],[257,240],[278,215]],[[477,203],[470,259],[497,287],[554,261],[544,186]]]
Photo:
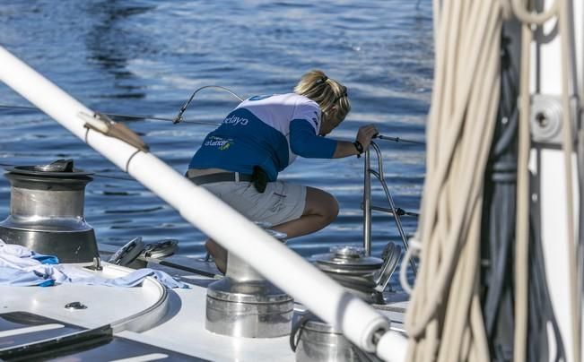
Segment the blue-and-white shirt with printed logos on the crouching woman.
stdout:
[[331,159],[336,141],[318,136],[318,104],[296,93],[244,100],[207,134],[188,168],[223,168],[251,174],[254,166],[270,181],[296,156]]

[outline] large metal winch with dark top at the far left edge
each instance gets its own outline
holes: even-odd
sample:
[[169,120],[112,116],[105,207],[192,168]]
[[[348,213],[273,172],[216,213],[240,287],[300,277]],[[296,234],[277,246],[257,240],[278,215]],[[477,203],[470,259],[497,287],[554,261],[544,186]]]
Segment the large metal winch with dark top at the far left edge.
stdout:
[[92,173],[74,168],[72,159],[6,170],[11,192],[10,215],[0,222],[4,242],[57,255],[61,263],[91,263],[99,256],[93,228],[83,217]]

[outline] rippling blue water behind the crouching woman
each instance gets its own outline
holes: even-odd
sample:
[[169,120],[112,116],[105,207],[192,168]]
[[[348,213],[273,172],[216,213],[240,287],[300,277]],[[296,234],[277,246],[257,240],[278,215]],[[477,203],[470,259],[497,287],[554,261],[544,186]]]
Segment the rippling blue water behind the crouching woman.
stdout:
[[[0,44],[92,109],[174,117],[196,88],[218,84],[242,97],[292,90],[302,73],[324,70],[349,89],[353,111],[332,137],[352,140],[373,123],[381,134],[424,141],[431,96],[431,2],[2,0]],[[0,65],[1,66],[1,65]],[[29,103],[0,84],[0,104]],[[220,122],[234,99],[201,91],[185,118]],[[210,125],[125,120],[155,155],[183,173]],[[204,254],[205,236],[152,192],[33,110],[0,108],[0,163],[46,164],[72,158],[97,173],[85,217],[100,242],[179,240],[179,254]],[[421,145],[378,142],[397,206],[418,211],[424,177]],[[336,222],[292,239],[304,256],[337,244],[362,245],[362,159],[298,159],[281,179],[334,194]],[[172,187],[172,185],[168,185]],[[373,185],[374,203],[387,207]],[[0,220],[10,185],[0,179]],[[196,203],[196,200],[193,200]],[[221,217],[221,215],[217,215]],[[402,219],[408,234],[417,220]],[[399,240],[395,223],[375,212],[373,253]]]

